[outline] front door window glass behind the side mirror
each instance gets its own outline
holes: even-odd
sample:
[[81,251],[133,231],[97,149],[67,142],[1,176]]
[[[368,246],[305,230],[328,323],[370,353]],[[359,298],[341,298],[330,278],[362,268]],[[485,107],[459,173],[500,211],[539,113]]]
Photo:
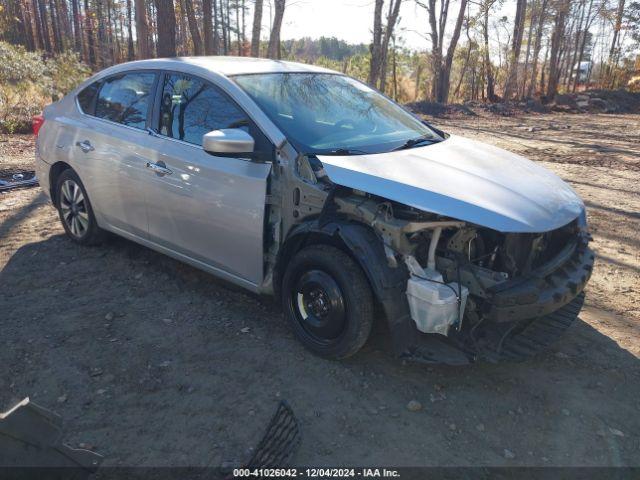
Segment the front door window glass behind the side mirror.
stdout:
[[160,103],[160,133],[195,145],[221,128],[249,131],[249,119],[213,85],[184,74],[167,74]]

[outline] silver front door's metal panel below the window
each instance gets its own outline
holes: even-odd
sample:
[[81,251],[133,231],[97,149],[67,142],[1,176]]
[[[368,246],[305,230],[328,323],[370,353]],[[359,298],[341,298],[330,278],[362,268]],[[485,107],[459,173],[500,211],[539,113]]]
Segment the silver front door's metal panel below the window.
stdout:
[[267,177],[271,164],[214,157],[162,137],[149,172],[149,239],[254,284],[262,282]]

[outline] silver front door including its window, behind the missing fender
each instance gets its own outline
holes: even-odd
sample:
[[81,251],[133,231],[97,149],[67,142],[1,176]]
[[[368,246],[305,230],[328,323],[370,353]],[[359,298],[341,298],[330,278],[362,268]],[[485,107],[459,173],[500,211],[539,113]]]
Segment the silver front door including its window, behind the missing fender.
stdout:
[[158,88],[153,161],[166,171],[147,172],[149,239],[235,280],[259,284],[271,163],[212,156],[201,145],[205,133],[238,127],[254,137],[259,151],[272,152],[271,143],[204,79],[167,72]]

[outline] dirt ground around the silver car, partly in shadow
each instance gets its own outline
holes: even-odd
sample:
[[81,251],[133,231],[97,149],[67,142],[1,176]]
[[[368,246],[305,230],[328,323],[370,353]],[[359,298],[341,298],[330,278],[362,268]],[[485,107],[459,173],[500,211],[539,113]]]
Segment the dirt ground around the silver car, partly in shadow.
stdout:
[[[122,239],[72,244],[31,188],[0,194],[0,409],[31,397],[104,465],[242,461],[286,399],[303,465],[640,466],[640,115],[434,123],[539,161],[584,198],[595,273],[551,351],[403,364],[376,328],[354,358],[321,360],[269,299]],[[32,158],[30,137],[0,138],[1,170]]]

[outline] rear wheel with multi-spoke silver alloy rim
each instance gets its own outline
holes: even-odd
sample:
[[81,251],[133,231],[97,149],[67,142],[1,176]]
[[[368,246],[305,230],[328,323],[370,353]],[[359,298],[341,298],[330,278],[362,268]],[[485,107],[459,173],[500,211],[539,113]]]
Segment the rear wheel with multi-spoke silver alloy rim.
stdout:
[[106,232],[98,227],[89,196],[78,174],[63,171],[56,182],[56,207],[67,236],[80,245],[97,245]]

